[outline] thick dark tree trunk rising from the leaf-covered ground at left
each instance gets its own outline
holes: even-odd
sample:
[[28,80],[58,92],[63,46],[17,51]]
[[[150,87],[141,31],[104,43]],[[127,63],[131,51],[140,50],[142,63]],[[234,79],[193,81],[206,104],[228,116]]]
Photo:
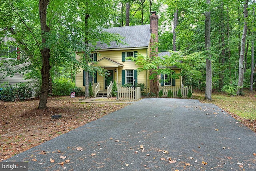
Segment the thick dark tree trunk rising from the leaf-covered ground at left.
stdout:
[[40,101],[38,105],[38,109],[46,109],[46,103],[48,98],[48,88],[49,88],[49,78],[50,78],[50,48],[45,46],[47,36],[46,32],[50,32],[50,28],[46,24],[46,14],[47,14],[47,6],[50,0],[39,0],[39,16],[41,23],[41,37],[42,37],[42,87],[41,87],[41,95]]

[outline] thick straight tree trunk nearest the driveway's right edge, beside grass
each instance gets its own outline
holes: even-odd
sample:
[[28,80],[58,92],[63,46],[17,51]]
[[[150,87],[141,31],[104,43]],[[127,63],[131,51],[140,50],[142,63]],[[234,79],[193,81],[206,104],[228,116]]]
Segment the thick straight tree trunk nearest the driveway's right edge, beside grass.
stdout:
[[[206,0],[206,3],[210,5],[210,0]],[[210,51],[211,42],[211,14],[210,11],[205,12],[205,49]],[[206,85],[204,99],[212,99],[212,60],[211,54],[208,52],[208,57],[206,58]]]

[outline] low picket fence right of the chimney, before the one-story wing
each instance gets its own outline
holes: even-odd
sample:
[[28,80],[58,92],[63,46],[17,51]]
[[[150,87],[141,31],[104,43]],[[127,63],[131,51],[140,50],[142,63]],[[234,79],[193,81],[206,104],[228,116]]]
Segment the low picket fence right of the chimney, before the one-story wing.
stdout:
[[179,89],[181,90],[182,97],[184,97],[184,98],[187,98],[189,89],[191,89],[191,92],[193,90],[192,86],[191,87],[181,87],[181,88],[180,87],[172,87],[172,86],[161,86],[159,88],[159,91],[162,90],[163,97],[167,97],[168,91],[171,90],[173,97],[178,97],[177,94],[178,94]]

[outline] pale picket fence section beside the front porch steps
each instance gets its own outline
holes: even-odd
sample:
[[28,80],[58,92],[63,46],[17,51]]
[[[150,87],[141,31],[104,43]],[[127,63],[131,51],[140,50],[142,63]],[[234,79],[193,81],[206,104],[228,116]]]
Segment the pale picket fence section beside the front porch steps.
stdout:
[[117,87],[117,99],[135,101],[140,99],[140,87],[121,87],[118,84]]

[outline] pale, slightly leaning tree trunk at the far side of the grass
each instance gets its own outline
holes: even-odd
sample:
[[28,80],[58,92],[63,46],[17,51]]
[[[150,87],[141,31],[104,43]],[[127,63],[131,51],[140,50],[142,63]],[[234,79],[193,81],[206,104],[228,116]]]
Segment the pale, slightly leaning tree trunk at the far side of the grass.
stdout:
[[243,92],[243,83],[244,83],[244,51],[245,51],[245,42],[246,42],[246,34],[247,34],[247,17],[248,17],[248,0],[244,1],[244,29],[241,39],[241,51],[239,58],[239,66],[238,66],[238,84],[236,95],[242,95]]

